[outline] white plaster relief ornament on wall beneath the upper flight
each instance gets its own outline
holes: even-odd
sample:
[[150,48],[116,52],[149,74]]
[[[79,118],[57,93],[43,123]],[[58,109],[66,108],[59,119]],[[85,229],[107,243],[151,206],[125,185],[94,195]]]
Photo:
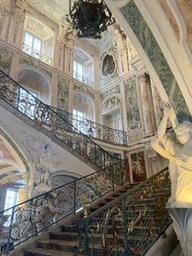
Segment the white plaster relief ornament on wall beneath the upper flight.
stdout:
[[66,158],[59,152],[53,151],[50,143],[43,139],[29,135],[26,131],[20,132],[21,143],[28,153],[28,163],[33,166],[31,170],[30,186],[33,188],[32,196],[37,196],[51,189],[50,174],[66,166]]

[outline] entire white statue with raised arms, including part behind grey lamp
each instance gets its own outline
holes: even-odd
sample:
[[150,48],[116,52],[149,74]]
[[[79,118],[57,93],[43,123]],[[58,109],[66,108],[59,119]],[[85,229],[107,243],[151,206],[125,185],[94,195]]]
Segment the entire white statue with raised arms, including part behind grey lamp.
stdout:
[[[173,218],[173,227],[183,253],[185,256],[190,256],[192,255],[192,215],[187,216],[186,223],[182,223],[181,219],[184,220],[187,209],[192,208],[192,124],[190,121],[183,121],[179,126],[174,127],[170,116],[171,104],[167,103],[164,105],[164,117],[159,124],[158,135],[152,139],[151,146],[169,160],[172,196],[168,200],[167,207],[172,209],[173,213],[177,213]],[[175,138],[166,132],[168,120],[175,130]],[[185,224],[186,229],[183,229]]]

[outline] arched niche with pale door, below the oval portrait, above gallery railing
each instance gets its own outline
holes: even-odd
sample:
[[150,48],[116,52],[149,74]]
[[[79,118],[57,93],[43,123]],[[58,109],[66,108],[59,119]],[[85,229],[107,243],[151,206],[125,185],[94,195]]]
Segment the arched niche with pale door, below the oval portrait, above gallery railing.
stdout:
[[111,95],[101,104],[101,117],[104,126],[115,130],[123,130],[121,99],[119,95]]

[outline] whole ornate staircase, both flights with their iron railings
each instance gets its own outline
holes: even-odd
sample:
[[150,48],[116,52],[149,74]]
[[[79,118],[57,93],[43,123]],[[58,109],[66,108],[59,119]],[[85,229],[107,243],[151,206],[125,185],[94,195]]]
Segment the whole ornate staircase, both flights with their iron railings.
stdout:
[[[124,161],[82,134],[58,109],[30,93],[25,98],[23,91],[0,71],[2,105],[16,108],[100,170],[0,212],[1,254],[19,255],[15,250],[25,241],[61,223],[60,232],[38,239],[37,248],[24,254],[145,255],[171,223],[164,208],[170,196],[168,169],[132,188]],[[64,223],[72,214],[72,221]]]

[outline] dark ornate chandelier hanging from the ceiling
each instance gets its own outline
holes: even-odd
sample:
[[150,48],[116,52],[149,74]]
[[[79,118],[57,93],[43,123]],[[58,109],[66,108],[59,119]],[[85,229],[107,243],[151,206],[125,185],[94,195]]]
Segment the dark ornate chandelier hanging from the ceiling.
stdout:
[[101,33],[116,22],[103,0],[69,0],[67,20],[78,38],[101,39]]

